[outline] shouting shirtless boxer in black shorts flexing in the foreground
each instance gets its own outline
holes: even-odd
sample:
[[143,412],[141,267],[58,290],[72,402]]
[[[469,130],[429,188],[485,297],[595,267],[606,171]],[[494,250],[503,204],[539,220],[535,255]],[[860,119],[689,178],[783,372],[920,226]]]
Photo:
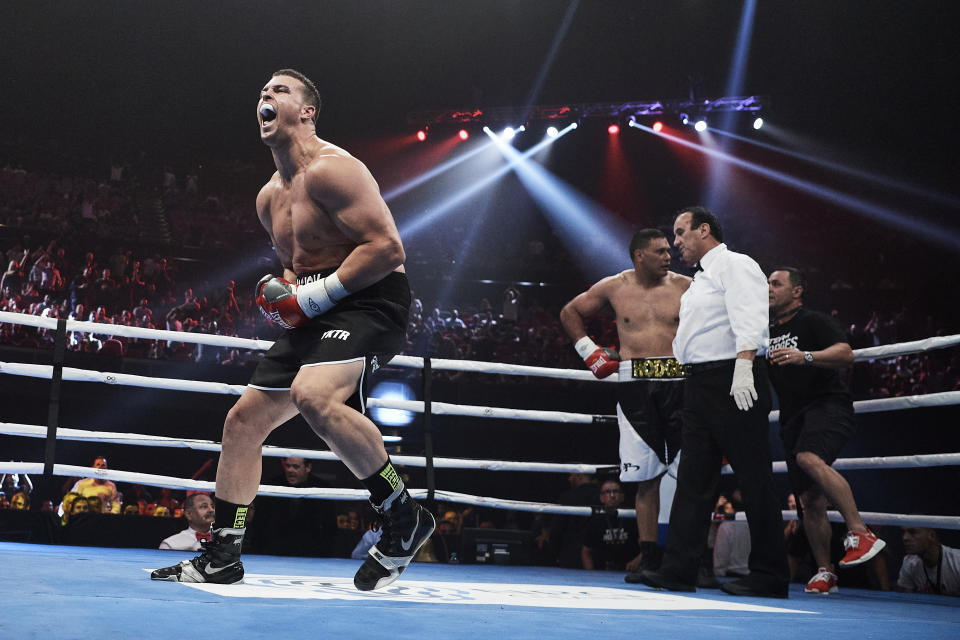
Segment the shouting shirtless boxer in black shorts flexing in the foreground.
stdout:
[[193,560],[154,580],[243,580],[240,548],[257,495],[261,447],[301,414],[370,491],[383,534],[354,577],[384,587],[430,537],[433,516],[413,501],[364,414],[369,376],[403,344],[410,306],[404,251],[393,216],[367,168],[316,135],[320,96],[298,71],[277,71],[260,91],[260,138],[277,172],[257,196],[257,215],[283,276],[257,285],[263,313],[286,331],[227,414],[217,468],[214,537]]

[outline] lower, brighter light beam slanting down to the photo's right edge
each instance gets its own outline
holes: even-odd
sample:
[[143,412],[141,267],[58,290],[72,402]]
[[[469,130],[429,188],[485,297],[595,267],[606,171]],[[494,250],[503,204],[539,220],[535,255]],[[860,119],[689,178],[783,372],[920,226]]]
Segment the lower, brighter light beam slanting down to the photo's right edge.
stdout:
[[666,138],[667,140],[675,142],[681,146],[704,153],[711,158],[728,162],[740,167],[741,169],[745,169],[751,173],[755,173],[775,182],[793,187],[794,189],[803,191],[804,193],[808,193],[828,202],[840,204],[868,217],[882,220],[883,222],[886,222],[890,226],[897,229],[902,229],[909,233],[919,232],[923,237],[937,244],[941,244],[955,250],[960,250],[960,235],[936,223],[912,218],[908,214],[897,211],[896,209],[891,209],[873,202],[868,202],[867,200],[857,198],[856,196],[851,196],[841,191],[837,191],[836,189],[818,185],[808,180],[803,180],[802,178],[797,178],[783,173],[782,171],[777,171],[754,162],[743,160],[724,151],[720,151],[719,149],[711,149],[703,145],[695,144],[689,140],[684,140],[683,138],[671,135],[669,133],[664,133],[662,131],[660,133],[656,133],[650,127],[646,127],[636,122],[630,122],[629,124],[631,127],[646,131],[647,133],[652,133],[653,135],[660,136],[661,138]]

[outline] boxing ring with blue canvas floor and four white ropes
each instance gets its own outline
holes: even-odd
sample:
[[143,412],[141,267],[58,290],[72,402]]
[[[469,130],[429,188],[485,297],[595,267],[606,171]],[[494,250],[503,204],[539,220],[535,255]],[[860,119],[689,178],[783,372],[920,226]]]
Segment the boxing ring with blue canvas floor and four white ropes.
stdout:
[[[239,395],[243,385],[199,380],[155,378],[65,367],[68,332],[96,333],[172,340],[214,347],[265,350],[262,340],[159,331],[137,327],[42,318],[0,312],[0,322],[22,324],[54,332],[52,365],[0,362],[4,386],[10,376],[49,379],[50,411],[46,425],[0,422],[0,435],[42,438],[46,441],[42,461],[0,462],[0,472],[96,476],[114,482],[182,490],[213,491],[214,483],[146,474],[130,470],[92,469],[56,461],[56,442],[73,440],[141,447],[219,451],[219,443],[202,439],[178,439],[138,433],[118,433],[61,427],[58,403],[64,382],[86,382],[124,387],[142,387],[174,392]],[[930,338],[910,343],[862,349],[857,361],[890,358],[943,349],[960,344],[960,336]],[[460,371],[503,376],[536,376],[560,380],[615,382],[617,376],[597,381],[588,371],[531,367],[501,363],[454,361],[397,356],[391,367],[419,369],[424,382],[422,400],[370,398],[368,407],[402,409],[423,415],[424,456],[391,455],[397,466],[422,468],[425,487],[411,488],[417,498],[442,500],[485,508],[544,514],[589,516],[589,507],[576,507],[493,498],[449,491],[437,486],[436,469],[480,472],[592,474],[618,467],[610,464],[522,462],[439,457],[433,452],[433,416],[462,416],[524,420],[575,425],[615,425],[612,415],[560,411],[507,409],[451,404],[432,398],[431,380],[436,371]],[[867,400],[855,403],[857,413],[909,411],[921,407],[960,404],[960,392]],[[771,422],[778,419],[771,413]],[[0,442],[3,440],[0,439]],[[158,455],[175,455],[174,452]],[[313,461],[333,461],[329,451],[265,446],[265,457],[301,456]],[[2,456],[0,456],[2,457]],[[844,470],[918,469],[960,466],[960,453],[846,458],[834,467]],[[784,462],[775,462],[775,473],[784,473]],[[729,473],[729,469],[724,470]],[[479,476],[478,476],[479,477]],[[955,485],[956,486],[956,485]],[[348,488],[294,489],[262,485],[259,495],[310,497],[328,500],[362,500],[363,490]],[[619,509],[622,518],[633,518],[632,509]],[[873,525],[928,526],[960,530],[960,516],[861,512]],[[831,521],[842,522],[839,513]],[[743,517],[743,514],[738,514]],[[796,513],[784,511],[785,519]],[[552,567],[457,565],[415,563],[404,577],[383,591],[361,593],[352,586],[357,561],[332,558],[277,558],[245,555],[247,576],[243,585],[190,585],[157,583],[147,570],[170,564],[170,552],[147,549],[90,547],[44,547],[0,543],[0,594],[13,605],[9,610],[34,606],[38,601],[55,607],[56,616],[14,616],[0,620],[0,638],[88,637],[111,632],[137,637],[169,638],[209,634],[242,637],[273,637],[291,629],[323,630],[354,637],[384,633],[393,637],[440,635],[451,637],[534,637],[549,633],[558,637],[604,634],[627,637],[648,631],[676,637],[768,637],[782,633],[785,625],[802,625],[804,634],[847,632],[867,637],[960,637],[960,600],[944,596],[898,594],[844,588],[839,594],[815,597],[791,585],[790,599],[765,600],[727,596],[700,590],[675,595],[623,582],[622,573],[567,570]],[[179,558],[178,559],[182,559]],[[322,602],[317,602],[322,601]],[[109,604],[105,604],[109,603]],[[220,605],[211,609],[209,604]],[[282,608],[278,608],[282,605]],[[113,611],[104,615],[104,611]],[[141,620],[168,620],[176,626],[142,625]],[[65,627],[70,620],[73,627]],[[195,624],[191,624],[195,623]],[[388,625],[382,627],[381,625]],[[384,631],[381,631],[384,629]],[[362,630],[362,631],[360,631]],[[181,635],[178,635],[182,631]]]

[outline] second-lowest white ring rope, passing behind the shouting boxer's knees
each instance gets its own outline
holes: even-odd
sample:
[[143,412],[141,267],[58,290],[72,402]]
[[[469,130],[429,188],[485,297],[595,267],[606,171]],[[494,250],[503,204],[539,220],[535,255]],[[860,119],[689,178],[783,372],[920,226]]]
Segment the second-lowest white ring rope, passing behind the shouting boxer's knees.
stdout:
[[[24,436],[28,438],[45,438],[47,427],[32,424],[18,424],[0,422],[0,435]],[[132,444],[151,447],[174,447],[192,449],[194,451],[220,451],[221,445],[211,440],[169,438],[166,436],[151,436],[139,433],[117,433],[114,431],[87,431],[84,429],[57,429],[57,438],[61,440],[76,440],[81,442],[100,442],[104,444]],[[385,441],[395,436],[383,436]],[[268,458],[298,457],[308,460],[335,461],[339,458],[332,451],[318,451],[315,449],[290,449],[263,446],[263,455]],[[397,464],[408,467],[425,467],[427,459],[422,456],[391,455],[390,459]],[[925,467],[948,467],[960,465],[960,453],[934,453],[910,456],[887,456],[870,458],[840,458],[835,460],[835,469],[864,470],[864,469],[917,469]],[[618,468],[618,464],[585,464],[585,463],[554,463],[554,462],[511,462],[507,460],[477,460],[470,458],[434,458],[433,466],[438,469],[481,469],[485,471],[536,471],[544,473],[586,473],[595,474],[604,469]],[[773,463],[774,473],[786,473],[787,463],[780,460]],[[733,473],[729,465],[723,468],[723,473]]]

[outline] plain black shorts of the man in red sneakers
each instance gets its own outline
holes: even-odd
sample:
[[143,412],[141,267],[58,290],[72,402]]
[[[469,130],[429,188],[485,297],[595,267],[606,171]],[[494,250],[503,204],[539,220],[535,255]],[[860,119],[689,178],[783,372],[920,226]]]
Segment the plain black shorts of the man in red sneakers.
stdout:
[[804,407],[790,422],[780,425],[787,476],[797,497],[814,484],[813,479],[797,465],[797,453],[809,451],[827,464],[833,464],[856,430],[853,404],[847,396],[820,398]]

